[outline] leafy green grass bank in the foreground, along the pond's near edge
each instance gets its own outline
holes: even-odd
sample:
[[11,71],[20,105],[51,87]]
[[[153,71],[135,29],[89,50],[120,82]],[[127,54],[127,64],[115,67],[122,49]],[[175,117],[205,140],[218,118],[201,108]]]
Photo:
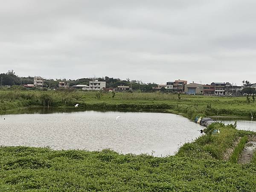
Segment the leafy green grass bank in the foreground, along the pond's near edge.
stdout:
[[254,191],[255,163],[222,160],[233,140],[253,133],[220,123],[206,132],[169,157],[1,147],[0,191]]

